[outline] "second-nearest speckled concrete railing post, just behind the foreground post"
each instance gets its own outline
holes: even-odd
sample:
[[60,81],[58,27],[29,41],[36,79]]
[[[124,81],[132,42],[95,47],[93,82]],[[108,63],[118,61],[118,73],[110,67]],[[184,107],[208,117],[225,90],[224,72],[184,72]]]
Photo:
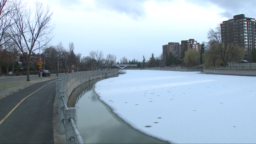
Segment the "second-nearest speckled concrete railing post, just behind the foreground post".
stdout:
[[[63,102],[62,102],[62,99],[61,97],[63,96],[64,99],[66,99],[66,96],[65,96],[65,92],[64,91],[60,91],[59,92],[59,116],[60,116],[60,134],[65,134],[65,128],[64,128],[64,125],[63,125],[63,122],[62,122],[62,119],[65,119],[64,115],[63,115],[63,111],[62,111],[62,107],[65,108]],[[65,123],[67,122],[67,120],[65,119]]]

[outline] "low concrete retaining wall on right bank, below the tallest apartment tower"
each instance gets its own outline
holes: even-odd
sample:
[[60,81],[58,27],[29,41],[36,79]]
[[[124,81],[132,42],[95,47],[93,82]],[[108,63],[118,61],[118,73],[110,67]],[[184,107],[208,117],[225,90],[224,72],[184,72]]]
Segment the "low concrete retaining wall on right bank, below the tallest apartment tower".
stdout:
[[204,72],[211,73],[211,74],[256,76],[255,70],[208,70],[208,69],[204,69]]

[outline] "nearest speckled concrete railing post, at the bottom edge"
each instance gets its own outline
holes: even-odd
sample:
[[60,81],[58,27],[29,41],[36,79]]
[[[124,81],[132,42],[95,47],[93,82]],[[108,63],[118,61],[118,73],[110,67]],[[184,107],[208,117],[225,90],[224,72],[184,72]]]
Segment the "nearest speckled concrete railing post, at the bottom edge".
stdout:
[[74,107],[69,107],[69,108],[65,108],[65,116],[66,116],[66,120],[65,120],[65,127],[66,127],[66,143],[72,143],[72,141],[70,140],[71,137],[75,138],[75,143],[78,143],[77,139],[76,139],[76,135],[74,133],[74,130],[72,128],[72,125],[69,121],[70,118],[74,119],[74,122],[76,124],[76,128],[77,128],[77,112],[76,112],[76,108]]

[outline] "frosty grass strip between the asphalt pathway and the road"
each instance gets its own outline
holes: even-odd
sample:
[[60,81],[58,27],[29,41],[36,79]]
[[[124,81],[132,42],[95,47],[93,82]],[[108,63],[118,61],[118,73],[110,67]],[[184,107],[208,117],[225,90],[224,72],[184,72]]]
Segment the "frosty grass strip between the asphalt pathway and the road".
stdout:
[[[21,77],[21,76],[19,76],[19,77]],[[58,77],[49,76],[49,77],[43,77],[42,79],[40,77],[35,78],[35,79],[30,79],[30,82],[26,82],[27,80],[20,80],[20,81],[15,81],[15,82],[0,83],[0,99],[4,98],[14,92],[22,90],[25,87],[28,87],[32,84],[51,80],[51,79],[56,79],[56,78],[58,78]]]

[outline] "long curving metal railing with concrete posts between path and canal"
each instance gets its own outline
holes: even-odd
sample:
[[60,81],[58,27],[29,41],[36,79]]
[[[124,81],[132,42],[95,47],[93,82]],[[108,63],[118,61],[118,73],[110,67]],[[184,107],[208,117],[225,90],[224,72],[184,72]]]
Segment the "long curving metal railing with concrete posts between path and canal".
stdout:
[[65,134],[66,143],[83,143],[83,139],[77,129],[77,113],[76,108],[68,107],[66,95],[63,91],[65,85],[76,77],[113,72],[117,70],[98,70],[98,71],[82,71],[67,73],[56,80],[56,102],[58,103],[58,113],[60,117],[60,134]]

